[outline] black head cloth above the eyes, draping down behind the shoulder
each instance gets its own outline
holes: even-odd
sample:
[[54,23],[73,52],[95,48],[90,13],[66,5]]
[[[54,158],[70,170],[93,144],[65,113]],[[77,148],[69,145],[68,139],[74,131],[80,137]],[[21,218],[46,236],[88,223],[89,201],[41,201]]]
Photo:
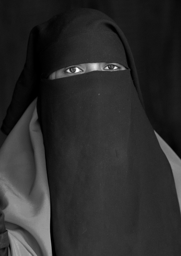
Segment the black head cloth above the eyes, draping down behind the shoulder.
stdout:
[[[87,33],[89,36],[92,34],[90,40],[85,36]],[[119,51],[114,50],[116,48],[111,47],[112,44],[114,47],[119,46]],[[76,56],[70,54],[75,47],[78,50]],[[131,69],[134,85],[143,103],[127,40],[117,24],[107,15],[93,9],[80,8],[57,15],[34,27],[29,37],[25,67],[16,83],[12,101],[2,123],[2,132],[10,133],[27,106],[38,95],[40,76],[47,77],[51,72],[69,65],[109,60],[113,62],[116,59]]]

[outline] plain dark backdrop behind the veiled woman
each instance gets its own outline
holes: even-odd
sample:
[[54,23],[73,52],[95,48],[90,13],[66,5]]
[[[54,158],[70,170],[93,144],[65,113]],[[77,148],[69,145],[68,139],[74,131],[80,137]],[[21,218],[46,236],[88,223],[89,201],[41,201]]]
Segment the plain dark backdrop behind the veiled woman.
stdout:
[[[24,66],[30,30],[72,7],[98,9],[123,30],[150,122],[181,157],[180,0],[1,0],[0,124]],[[0,133],[0,145],[5,137]]]

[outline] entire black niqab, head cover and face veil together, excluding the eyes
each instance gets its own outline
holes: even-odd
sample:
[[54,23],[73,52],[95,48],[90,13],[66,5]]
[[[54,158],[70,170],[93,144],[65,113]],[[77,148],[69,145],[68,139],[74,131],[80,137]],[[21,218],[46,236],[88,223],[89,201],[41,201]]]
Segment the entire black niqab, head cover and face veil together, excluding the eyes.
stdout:
[[[53,255],[180,255],[172,170],[141,104],[133,57],[119,27],[99,11],[75,9],[31,35],[38,64],[27,61],[32,84],[24,87],[31,97],[39,90]],[[46,79],[88,62],[116,62],[127,70]]]

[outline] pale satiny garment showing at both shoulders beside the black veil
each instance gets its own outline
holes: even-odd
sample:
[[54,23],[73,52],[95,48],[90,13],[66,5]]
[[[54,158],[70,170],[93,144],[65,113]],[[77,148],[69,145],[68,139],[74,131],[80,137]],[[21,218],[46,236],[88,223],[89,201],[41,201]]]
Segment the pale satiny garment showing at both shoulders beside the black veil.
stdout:
[[[156,136],[171,164],[181,206],[181,160]],[[36,100],[0,149],[0,198],[10,239],[9,256],[51,256],[50,195]]]

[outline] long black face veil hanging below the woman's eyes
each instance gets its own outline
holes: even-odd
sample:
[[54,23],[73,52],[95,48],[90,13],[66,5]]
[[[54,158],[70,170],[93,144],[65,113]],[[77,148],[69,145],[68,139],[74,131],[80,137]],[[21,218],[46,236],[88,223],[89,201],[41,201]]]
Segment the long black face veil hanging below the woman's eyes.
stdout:
[[42,80],[56,255],[180,255],[170,165],[130,71]]

